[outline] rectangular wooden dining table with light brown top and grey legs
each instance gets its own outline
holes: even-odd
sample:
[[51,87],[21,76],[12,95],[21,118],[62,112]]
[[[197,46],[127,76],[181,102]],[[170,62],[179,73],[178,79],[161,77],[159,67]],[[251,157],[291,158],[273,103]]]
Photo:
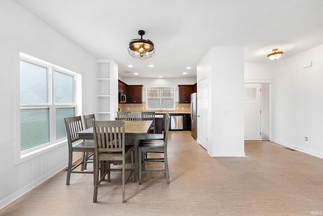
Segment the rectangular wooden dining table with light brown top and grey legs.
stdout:
[[[149,121],[125,121],[125,139],[133,140],[133,142],[126,142],[126,145],[134,145],[134,177],[135,181],[138,180],[139,175],[139,161],[138,161],[138,146],[139,140],[146,139],[146,135],[150,130],[152,125],[151,120]],[[88,128],[82,131],[79,131],[78,136],[80,139],[94,139],[93,128]]]

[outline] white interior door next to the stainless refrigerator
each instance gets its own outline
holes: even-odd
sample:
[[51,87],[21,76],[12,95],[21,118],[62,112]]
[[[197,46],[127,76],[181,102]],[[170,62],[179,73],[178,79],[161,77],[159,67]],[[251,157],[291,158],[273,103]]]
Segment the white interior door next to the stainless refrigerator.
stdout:
[[207,148],[207,79],[198,82],[197,86],[197,139],[196,141]]

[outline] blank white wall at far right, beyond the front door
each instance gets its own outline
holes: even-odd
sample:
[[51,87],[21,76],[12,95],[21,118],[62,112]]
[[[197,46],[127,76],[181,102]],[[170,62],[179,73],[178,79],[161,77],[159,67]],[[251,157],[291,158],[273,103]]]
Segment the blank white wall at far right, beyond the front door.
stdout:
[[[275,142],[323,158],[323,45],[275,64]],[[312,67],[303,68],[310,65]],[[308,137],[305,141],[304,137]]]

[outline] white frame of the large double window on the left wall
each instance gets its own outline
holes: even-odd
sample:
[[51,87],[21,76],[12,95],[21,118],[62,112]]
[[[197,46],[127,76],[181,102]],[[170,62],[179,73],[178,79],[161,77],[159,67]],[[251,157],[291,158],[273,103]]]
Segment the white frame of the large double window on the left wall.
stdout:
[[[39,65],[41,67],[47,68],[48,78],[47,78],[47,88],[48,88],[48,103],[47,104],[20,104],[20,60]],[[74,87],[74,103],[73,104],[55,104],[55,98],[53,97],[53,91],[55,86],[53,85],[52,76],[55,71],[68,74],[73,76]],[[79,116],[82,113],[82,75],[70,71],[68,69],[62,68],[55,64],[40,60],[38,58],[27,55],[26,53],[15,50],[15,89],[16,89],[16,99],[15,99],[15,151],[16,151],[16,164],[20,164],[28,159],[39,156],[43,153],[51,151],[55,148],[66,145],[66,137],[56,139],[56,109],[63,107],[75,107],[75,115]],[[32,108],[49,108],[49,131],[50,137],[49,142],[41,144],[39,146],[26,149],[21,151],[20,143],[20,109],[32,109]]]

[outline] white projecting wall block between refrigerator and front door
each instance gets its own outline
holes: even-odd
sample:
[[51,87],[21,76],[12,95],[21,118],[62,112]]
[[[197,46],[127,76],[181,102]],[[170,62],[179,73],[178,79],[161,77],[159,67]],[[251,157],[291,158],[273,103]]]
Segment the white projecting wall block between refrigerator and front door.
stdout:
[[[211,156],[244,156],[244,50],[213,47],[198,63],[208,80],[206,149]],[[224,114],[226,113],[226,114]]]

